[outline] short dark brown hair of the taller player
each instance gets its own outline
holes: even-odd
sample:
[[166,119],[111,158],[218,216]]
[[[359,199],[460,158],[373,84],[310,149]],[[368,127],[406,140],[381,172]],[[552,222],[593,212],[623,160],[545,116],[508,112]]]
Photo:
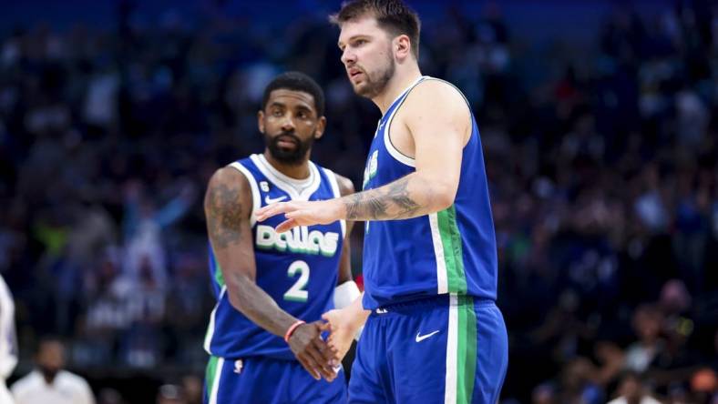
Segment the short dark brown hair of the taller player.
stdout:
[[402,0],[349,0],[344,2],[342,9],[329,20],[342,26],[347,21],[364,15],[373,15],[382,29],[392,35],[407,35],[411,40],[411,52],[419,58],[419,33],[421,20]]

